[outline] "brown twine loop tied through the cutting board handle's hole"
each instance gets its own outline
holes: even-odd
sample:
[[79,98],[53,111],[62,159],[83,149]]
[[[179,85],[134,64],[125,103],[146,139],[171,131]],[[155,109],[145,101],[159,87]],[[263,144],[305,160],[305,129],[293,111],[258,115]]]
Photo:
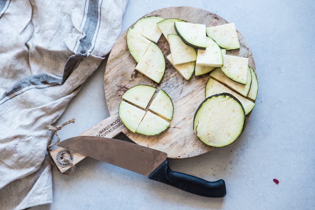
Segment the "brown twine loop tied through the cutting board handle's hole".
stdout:
[[[48,157],[49,157],[50,163],[51,163],[51,164],[55,167],[55,169],[57,169],[59,172],[60,172],[60,170],[57,168],[57,166],[56,166],[55,163],[54,163],[54,160],[52,159],[52,157],[51,157],[51,155],[50,155],[50,148],[53,147],[53,146],[56,146],[56,145],[60,142],[60,137],[59,137],[57,131],[60,130],[63,126],[65,126],[65,125],[67,125],[67,124],[70,124],[70,123],[74,123],[74,122],[75,122],[75,119],[73,118],[73,119],[71,119],[71,120],[65,121],[65,122],[64,122],[63,124],[61,124],[61,125],[57,125],[57,126],[54,126],[54,125],[47,125],[47,128],[52,131],[51,136],[50,136],[49,141],[48,141],[48,146],[47,146]],[[56,135],[57,141],[51,143],[51,141],[52,141],[53,138],[54,138],[54,135]],[[74,172],[75,167],[74,167],[74,164],[72,163],[72,161],[70,160],[70,157],[69,157],[66,153],[61,154],[61,155],[60,155],[60,161],[61,161],[62,163],[68,163],[69,166],[70,166],[70,169],[71,169],[69,173],[61,173],[61,172],[60,172],[60,173],[61,173],[61,174],[64,174],[64,175],[71,175],[71,174]]]

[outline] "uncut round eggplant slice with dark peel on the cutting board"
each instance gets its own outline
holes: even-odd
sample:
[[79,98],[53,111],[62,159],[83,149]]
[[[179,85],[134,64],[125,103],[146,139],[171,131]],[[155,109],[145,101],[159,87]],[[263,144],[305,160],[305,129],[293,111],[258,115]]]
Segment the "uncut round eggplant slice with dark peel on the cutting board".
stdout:
[[198,107],[193,129],[205,144],[214,147],[233,143],[243,132],[246,115],[243,105],[229,93],[206,98]]

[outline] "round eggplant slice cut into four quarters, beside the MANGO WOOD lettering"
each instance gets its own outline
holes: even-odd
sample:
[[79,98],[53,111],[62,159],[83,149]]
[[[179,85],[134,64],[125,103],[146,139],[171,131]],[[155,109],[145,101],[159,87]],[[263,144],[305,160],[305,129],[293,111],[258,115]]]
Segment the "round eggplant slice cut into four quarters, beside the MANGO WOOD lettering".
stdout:
[[155,87],[137,85],[123,94],[122,98],[129,103],[121,101],[118,114],[123,124],[131,132],[157,135],[169,127],[170,124],[165,119],[173,118],[174,107],[171,98],[163,90],[157,93],[149,107],[154,113],[143,110],[146,109],[155,91]]

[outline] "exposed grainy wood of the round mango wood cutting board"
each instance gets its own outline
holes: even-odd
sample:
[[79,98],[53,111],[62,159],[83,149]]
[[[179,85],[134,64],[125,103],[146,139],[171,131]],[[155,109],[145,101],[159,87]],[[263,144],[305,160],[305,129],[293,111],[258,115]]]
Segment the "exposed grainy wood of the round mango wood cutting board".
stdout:
[[[146,14],[143,17],[148,16],[179,18],[191,23],[205,24],[207,27],[228,23],[225,19],[214,13],[193,7],[163,8]],[[117,135],[118,131],[123,132],[137,144],[168,153],[169,158],[188,158],[213,150],[214,147],[207,146],[198,140],[192,128],[195,111],[205,99],[205,86],[209,79],[209,74],[197,77],[193,75],[189,81],[186,81],[166,60],[165,74],[160,84],[157,84],[135,70],[137,63],[127,49],[126,33],[127,30],[115,43],[106,64],[104,87],[107,106],[111,114],[110,120],[105,119],[80,135],[99,135],[100,130],[106,128],[108,123],[118,118],[118,106],[123,93],[135,85],[142,84],[154,86],[157,88],[157,91],[163,89],[172,99],[174,103],[174,115],[173,120],[170,121],[171,125],[169,129],[159,135],[145,136],[132,133],[124,126],[121,126],[106,137],[111,138],[114,137],[113,134]],[[249,58],[249,66],[256,73],[252,52],[240,32],[238,32],[238,39],[241,48],[227,50],[226,54]],[[166,58],[170,54],[170,50],[169,44],[163,35],[160,37],[157,45]],[[247,118],[249,115],[250,113],[247,115]],[[57,148],[52,154],[57,153],[60,149]],[[74,154],[74,163],[83,158]],[[66,167],[62,168],[62,171],[65,171],[65,169]]]

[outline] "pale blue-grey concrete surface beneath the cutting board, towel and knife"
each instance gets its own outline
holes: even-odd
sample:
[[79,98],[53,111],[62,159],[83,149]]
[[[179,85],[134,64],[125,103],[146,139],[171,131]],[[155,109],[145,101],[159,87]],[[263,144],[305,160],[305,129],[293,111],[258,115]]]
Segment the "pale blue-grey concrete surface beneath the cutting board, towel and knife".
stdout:
[[[192,195],[86,158],[72,176],[53,169],[54,203],[31,210],[314,209],[314,2],[130,0],[122,31],[142,15],[170,6],[199,7],[235,22],[255,58],[259,92],[241,138],[198,157],[170,160],[174,170],[206,180],[224,179],[226,197]],[[58,120],[60,124],[76,118],[75,124],[59,132],[63,139],[109,116],[103,88],[105,65],[106,61]]]

